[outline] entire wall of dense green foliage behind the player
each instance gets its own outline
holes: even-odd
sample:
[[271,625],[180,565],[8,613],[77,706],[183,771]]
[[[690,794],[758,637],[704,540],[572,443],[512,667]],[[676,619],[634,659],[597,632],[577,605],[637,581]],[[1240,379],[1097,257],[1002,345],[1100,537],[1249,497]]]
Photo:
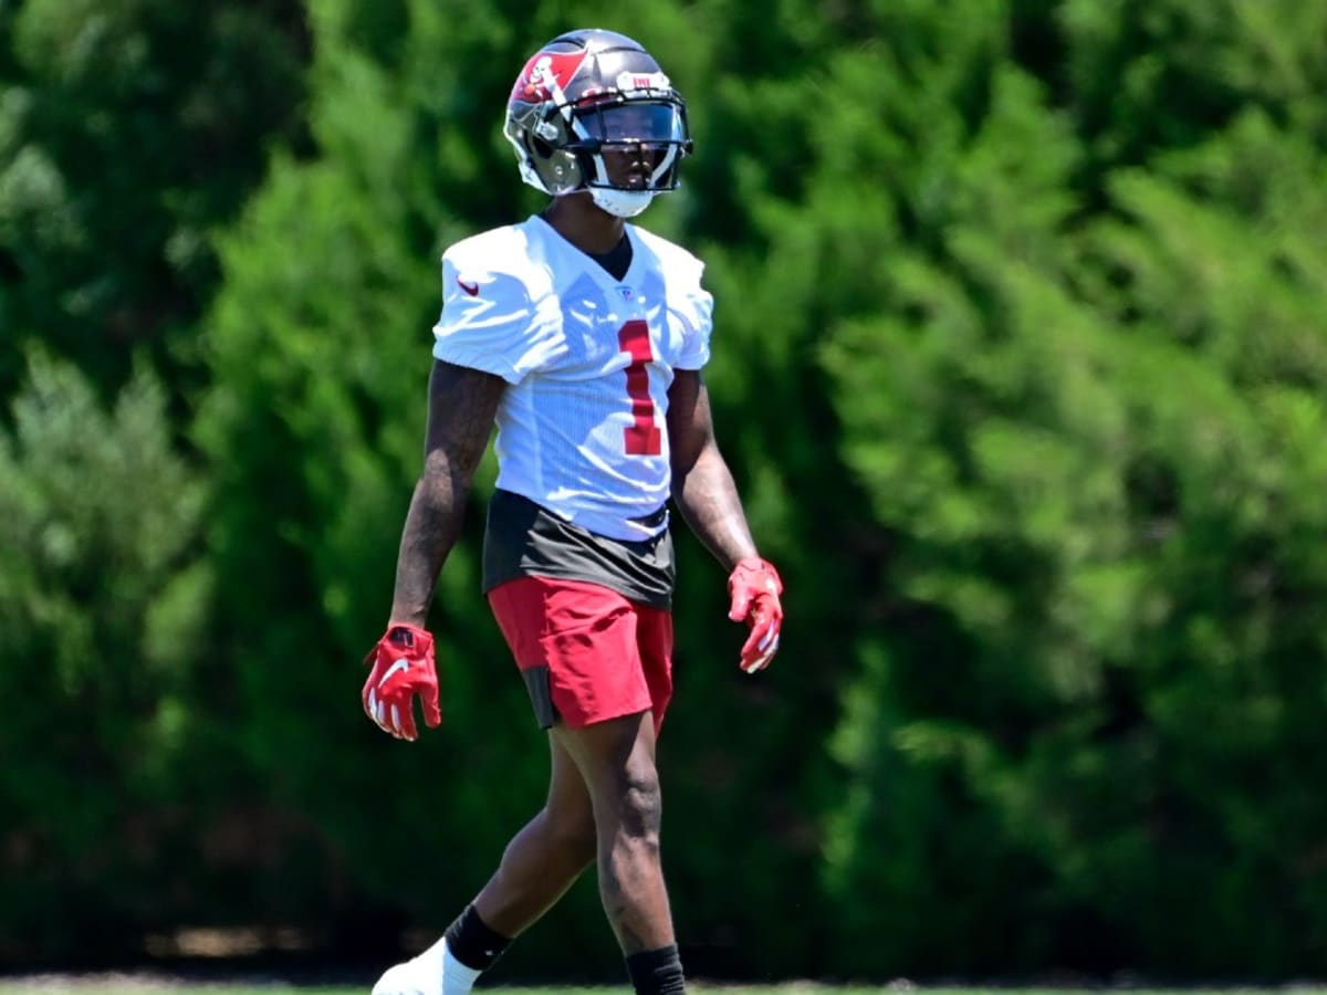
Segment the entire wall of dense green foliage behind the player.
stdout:
[[[204,5],[207,7],[207,5]],[[1327,7],[0,0],[0,958],[293,929],[387,958],[544,747],[478,593],[362,719],[451,240],[567,25],[690,96],[642,222],[786,577],[748,679],[679,536],[693,970],[1327,970]],[[498,975],[617,980],[591,882]]]

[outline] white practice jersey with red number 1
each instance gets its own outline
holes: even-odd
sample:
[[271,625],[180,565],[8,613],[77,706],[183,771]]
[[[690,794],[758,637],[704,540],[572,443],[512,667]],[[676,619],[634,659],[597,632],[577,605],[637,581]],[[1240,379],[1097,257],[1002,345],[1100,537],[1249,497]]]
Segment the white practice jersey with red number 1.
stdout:
[[537,215],[456,243],[442,257],[433,354],[511,385],[499,488],[640,540],[666,528],[667,390],[674,370],[710,358],[713,298],[690,252],[630,224],[626,236],[622,280]]

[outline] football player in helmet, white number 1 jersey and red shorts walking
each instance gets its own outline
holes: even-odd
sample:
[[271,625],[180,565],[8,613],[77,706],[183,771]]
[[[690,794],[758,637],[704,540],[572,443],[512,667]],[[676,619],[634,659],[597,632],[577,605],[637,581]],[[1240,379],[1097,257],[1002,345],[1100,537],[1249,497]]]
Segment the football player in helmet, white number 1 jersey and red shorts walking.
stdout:
[[528,60],[503,131],[551,203],[443,255],[423,470],[362,699],[399,739],[417,738],[415,698],[441,720],[426,614],[496,423],[483,589],[547,730],[548,799],[445,935],[373,991],[464,995],[596,864],[636,991],[671,995],[654,765],[673,691],[669,499],[730,572],[747,673],[779,647],[782,582],[715,444],[702,264],[626,222],[677,187],[682,98],[632,38],[573,31]]

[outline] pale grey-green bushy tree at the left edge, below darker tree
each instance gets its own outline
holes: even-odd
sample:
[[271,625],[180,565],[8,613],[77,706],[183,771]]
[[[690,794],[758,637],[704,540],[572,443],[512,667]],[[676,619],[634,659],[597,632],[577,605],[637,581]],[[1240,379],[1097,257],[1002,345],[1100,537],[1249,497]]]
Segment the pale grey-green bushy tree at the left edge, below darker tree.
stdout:
[[[0,431],[0,856],[17,955],[114,950],[169,906],[158,845],[196,796],[194,666],[211,572],[203,487],[141,367],[111,411],[35,354]],[[190,823],[190,829],[198,828]]]

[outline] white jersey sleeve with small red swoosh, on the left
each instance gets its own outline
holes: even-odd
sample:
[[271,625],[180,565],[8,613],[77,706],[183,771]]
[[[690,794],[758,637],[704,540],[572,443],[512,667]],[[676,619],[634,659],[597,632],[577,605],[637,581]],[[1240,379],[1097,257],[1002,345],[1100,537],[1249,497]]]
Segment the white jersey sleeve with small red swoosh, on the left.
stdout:
[[442,257],[442,317],[433,326],[434,358],[519,383],[552,360],[557,325],[519,275],[450,251]]

